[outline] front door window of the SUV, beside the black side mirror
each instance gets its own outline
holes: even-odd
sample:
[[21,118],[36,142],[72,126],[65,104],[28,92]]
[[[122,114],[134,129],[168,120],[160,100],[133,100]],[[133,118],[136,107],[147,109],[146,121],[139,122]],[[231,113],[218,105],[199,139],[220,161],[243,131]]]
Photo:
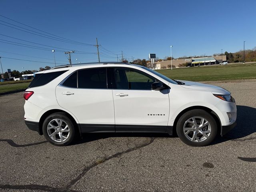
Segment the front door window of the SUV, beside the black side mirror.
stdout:
[[129,68],[114,68],[114,88],[151,90],[156,79],[148,74]]

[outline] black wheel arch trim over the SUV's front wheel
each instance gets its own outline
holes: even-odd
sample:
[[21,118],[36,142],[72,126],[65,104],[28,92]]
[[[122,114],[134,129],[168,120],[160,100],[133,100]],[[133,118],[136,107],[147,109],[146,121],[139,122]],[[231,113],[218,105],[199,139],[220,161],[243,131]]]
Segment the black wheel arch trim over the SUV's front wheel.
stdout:
[[205,106],[191,106],[191,107],[188,107],[184,110],[182,110],[175,118],[174,120],[174,124],[173,124],[173,134],[177,135],[177,132],[176,132],[176,125],[177,125],[177,122],[178,120],[180,119],[180,117],[190,111],[190,110],[193,110],[193,109],[202,109],[202,110],[205,110],[206,112],[208,112],[210,115],[212,115],[212,117],[214,118],[214,120],[216,121],[217,123],[217,127],[218,127],[218,132],[217,134],[220,134],[220,131],[221,131],[221,121],[220,121],[220,118],[218,117],[218,115],[213,111],[211,110],[210,108],[208,107],[205,107]]

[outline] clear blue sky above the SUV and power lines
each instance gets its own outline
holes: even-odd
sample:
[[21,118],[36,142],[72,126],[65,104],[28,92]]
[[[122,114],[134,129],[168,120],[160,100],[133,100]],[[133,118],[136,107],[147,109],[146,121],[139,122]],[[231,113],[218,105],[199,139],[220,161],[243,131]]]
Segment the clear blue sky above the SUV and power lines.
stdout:
[[[170,56],[170,45],[173,46],[174,58],[212,55],[220,53],[221,49],[223,52],[236,52],[243,49],[244,41],[246,49],[252,49],[256,46],[255,7],[255,0],[1,0],[0,15],[77,42],[96,44],[97,37],[98,44],[102,46],[101,61],[116,61],[115,54],[121,58],[121,50],[124,58],[130,60],[132,56],[135,59],[148,59],[149,53],[164,58]],[[98,60],[95,46],[43,38],[4,26],[2,24],[10,25],[4,22],[34,30],[0,16],[0,34],[49,46],[0,35],[0,56],[4,72],[7,68],[22,71],[54,66],[51,49],[58,49],[51,46],[63,48],[61,52],[55,52],[56,63],[68,64],[64,50],[92,53],[76,52],[72,54],[72,63]],[[50,50],[6,44],[3,40]]]

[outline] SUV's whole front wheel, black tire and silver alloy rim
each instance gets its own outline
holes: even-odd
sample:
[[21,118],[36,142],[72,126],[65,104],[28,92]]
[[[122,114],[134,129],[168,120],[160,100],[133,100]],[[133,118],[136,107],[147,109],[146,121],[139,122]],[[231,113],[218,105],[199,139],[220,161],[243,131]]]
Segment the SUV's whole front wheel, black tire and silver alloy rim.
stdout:
[[179,138],[190,146],[206,146],[217,134],[214,118],[201,109],[184,113],[177,122],[176,131]]

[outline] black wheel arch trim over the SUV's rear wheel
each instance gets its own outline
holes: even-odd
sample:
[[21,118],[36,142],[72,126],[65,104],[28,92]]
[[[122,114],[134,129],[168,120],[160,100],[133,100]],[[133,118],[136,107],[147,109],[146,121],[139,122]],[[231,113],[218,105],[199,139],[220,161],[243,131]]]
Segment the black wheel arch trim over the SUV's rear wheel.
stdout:
[[46,117],[48,117],[50,114],[53,114],[53,113],[58,113],[58,112],[63,112],[63,113],[66,113],[68,118],[70,118],[70,120],[72,121],[72,123],[74,124],[75,128],[78,130],[80,136],[81,136],[81,128],[79,126],[79,124],[77,124],[76,120],[72,117],[72,115],[70,115],[68,112],[64,111],[64,110],[60,110],[60,109],[51,109],[51,110],[48,110],[46,111],[40,118],[39,120],[39,123],[38,123],[38,126],[39,126],[39,134],[42,135],[43,134],[43,123],[44,123],[44,120],[46,119]]

